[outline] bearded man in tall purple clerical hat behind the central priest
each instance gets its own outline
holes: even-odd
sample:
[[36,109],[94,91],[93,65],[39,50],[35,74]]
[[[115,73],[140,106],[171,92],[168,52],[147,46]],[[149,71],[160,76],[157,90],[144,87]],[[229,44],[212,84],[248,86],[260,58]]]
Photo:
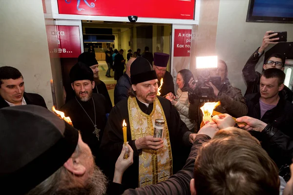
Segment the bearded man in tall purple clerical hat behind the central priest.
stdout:
[[156,71],[158,80],[160,82],[161,78],[163,78],[163,86],[161,88],[161,95],[162,97],[166,96],[168,93],[175,94],[174,90],[174,81],[172,75],[167,71],[167,64],[170,58],[169,54],[154,53],[154,65],[153,68]]

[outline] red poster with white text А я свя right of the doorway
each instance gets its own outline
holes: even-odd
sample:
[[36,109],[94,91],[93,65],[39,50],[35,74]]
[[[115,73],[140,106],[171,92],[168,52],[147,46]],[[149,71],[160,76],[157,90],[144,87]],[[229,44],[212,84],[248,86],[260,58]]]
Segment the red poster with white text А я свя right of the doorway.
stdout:
[[189,57],[191,43],[191,29],[175,29],[174,57]]

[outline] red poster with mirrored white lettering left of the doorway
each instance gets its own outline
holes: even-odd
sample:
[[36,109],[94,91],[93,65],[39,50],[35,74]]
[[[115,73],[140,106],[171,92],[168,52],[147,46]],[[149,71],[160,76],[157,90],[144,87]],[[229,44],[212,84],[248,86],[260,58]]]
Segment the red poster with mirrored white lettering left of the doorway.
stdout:
[[46,31],[51,58],[78,58],[81,54],[79,26],[47,25]]

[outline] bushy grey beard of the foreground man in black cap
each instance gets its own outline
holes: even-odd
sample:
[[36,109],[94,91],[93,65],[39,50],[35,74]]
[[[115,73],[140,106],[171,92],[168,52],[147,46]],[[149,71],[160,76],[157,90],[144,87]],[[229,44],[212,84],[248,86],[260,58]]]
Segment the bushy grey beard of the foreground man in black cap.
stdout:
[[86,180],[84,187],[72,187],[57,191],[54,195],[104,195],[107,189],[107,178],[95,165],[93,174]]

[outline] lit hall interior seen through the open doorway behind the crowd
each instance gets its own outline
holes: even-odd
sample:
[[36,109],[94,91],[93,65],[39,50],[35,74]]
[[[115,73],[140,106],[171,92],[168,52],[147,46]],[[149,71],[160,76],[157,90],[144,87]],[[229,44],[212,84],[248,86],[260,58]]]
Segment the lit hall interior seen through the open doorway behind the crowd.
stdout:
[[[100,80],[105,82],[112,104],[114,105],[114,88],[117,80],[114,79],[114,71],[110,70],[110,75],[106,76],[108,65],[105,61],[105,52],[111,47],[113,51],[123,49],[123,57],[127,63],[128,51],[132,55],[141,50],[143,54],[145,47],[149,52],[162,52],[171,55],[171,33],[172,25],[157,25],[146,23],[115,23],[101,21],[82,21],[84,52],[93,51],[99,63]],[[167,70],[170,71],[170,60]],[[110,76],[110,77],[108,77]]]

